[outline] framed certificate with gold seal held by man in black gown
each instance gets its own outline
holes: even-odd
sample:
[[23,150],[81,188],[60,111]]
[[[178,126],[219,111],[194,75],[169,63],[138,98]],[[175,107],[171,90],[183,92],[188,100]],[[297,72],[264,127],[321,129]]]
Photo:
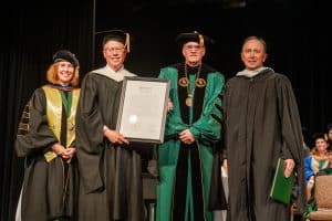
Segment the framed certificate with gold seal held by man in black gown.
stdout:
[[162,144],[169,81],[126,76],[123,81],[116,130],[129,141]]

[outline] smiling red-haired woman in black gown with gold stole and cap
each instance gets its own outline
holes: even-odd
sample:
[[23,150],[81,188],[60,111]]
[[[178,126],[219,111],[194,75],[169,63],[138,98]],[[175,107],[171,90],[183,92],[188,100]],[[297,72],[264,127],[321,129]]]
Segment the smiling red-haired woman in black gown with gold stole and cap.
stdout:
[[66,50],[53,55],[49,84],[37,88],[18,129],[15,150],[25,157],[17,220],[74,220],[75,114],[79,61]]

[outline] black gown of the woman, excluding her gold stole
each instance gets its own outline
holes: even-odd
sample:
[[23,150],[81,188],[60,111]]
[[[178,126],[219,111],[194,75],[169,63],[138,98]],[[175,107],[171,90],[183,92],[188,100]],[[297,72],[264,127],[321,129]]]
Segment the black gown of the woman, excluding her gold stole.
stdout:
[[[54,88],[55,90],[55,88]],[[24,109],[15,140],[19,157],[25,157],[25,170],[21,193],[22,221],[49,221],[60,217],[75,220],[77,169],[76,160],[70,164],[55,157],[46,161],[44,154],[55,143],[61,143],[49,128],[46,97],[38,88]],[[21,125],[29,129],[22,131]],[[61,137],[66,130],[66,117],[62,107]],[[28,127],[25,127],[28,128]],[[65,179],[65,177],[68,179]]]

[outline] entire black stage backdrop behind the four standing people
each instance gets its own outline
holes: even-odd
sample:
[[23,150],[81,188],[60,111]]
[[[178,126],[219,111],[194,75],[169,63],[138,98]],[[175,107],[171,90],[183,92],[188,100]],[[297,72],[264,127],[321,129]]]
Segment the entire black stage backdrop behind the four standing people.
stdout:
[[32,92],[45,83],[52,54],[59,49],[75,53],[83,77],[103,65],[100,32],[111,29],[131,33],[126,67],[142,76],[157,76],[162,66],[181,61],[174,42],[179,32],[196,30],[214,38],[217,44],[208,49],[205,60],[227,78],[242,69],[243,38],[263,36],[269,53],[266,65],[289,76],[302,126],[309,135],[324,130],[332,122],[328,1],[248,0],[242,7],[229,2],[232,0],[166,0],[158,4],[149,0],[12,0],[2,6],[0,220],[14,220],[23,178],[23,159],[13,149],[18,120]]

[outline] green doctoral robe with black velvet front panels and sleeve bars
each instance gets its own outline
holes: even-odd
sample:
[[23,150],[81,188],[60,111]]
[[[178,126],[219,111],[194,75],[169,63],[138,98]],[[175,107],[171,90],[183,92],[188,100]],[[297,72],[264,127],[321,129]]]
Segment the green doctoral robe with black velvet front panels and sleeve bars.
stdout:
[[[176,64],[162,69],[159,74],[160,78],[170,81],[169,98],[174,108],[167,115],[165,143],[158,147],[157,221],[212,220],[208,209],[212,152],[220,139],[221,126],[210,115],[220,116],[214,104],[221,104],[218,94],[225,78],[203,64],[199,78],[206,85],[196,86],[194,105],[188,107],[188,91],[178,84],[178,80],[185,77],[184,70],[184,64]],[[193,92],[197,72],[188,67],[189,92]],[[185,129],[194,135],[194,144],[185,145],[177,138]]]

